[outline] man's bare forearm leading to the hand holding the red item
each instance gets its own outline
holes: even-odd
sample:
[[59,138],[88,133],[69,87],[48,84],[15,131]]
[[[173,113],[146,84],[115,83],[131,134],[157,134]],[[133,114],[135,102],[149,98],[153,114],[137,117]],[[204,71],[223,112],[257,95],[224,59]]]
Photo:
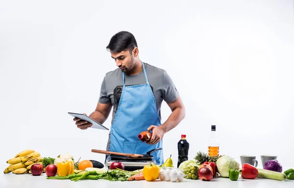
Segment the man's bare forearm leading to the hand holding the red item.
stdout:
[[177,107],[172,111],[170,117],[164,122],[160,128],[164,131],[164,133],[169,132],[174,127],[176,127],[183,118],[185,118],[186,112],[185,107]]

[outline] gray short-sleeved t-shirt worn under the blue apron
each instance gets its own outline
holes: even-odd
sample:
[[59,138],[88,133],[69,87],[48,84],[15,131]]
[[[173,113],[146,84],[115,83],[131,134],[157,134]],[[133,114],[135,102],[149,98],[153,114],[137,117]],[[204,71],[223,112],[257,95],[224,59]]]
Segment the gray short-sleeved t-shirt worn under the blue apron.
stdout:
[[[156,108],[158,112],[159,118],[160,115],[160,108],[162,101],[166,101],[170,103],[174,101],[178,97],[178,92],[172,82],[171,77],[168,73],[157,67],[151,66],[145,63],[145,69],[148,77],[149,84],[153,91],[155,101],[156,101]],[[146,79],[144,75],[144,71],[142,70],[140,73],[136,75],[126,75],[125,74],[125,85],[141,85],[146,84]],[[123,72],[118,68],[114,71],[107,72],[100,90],[100,97],[99,102],[106,104],[111,102],[113,105],[113,113],[112,113],[112,120],[111,124],[113,124],[118,104],[120,102],[121,94],[123,91]],[[110,132],[109,132],[109,139],[107,142],[106,150],[109,151],[110,148]]]

